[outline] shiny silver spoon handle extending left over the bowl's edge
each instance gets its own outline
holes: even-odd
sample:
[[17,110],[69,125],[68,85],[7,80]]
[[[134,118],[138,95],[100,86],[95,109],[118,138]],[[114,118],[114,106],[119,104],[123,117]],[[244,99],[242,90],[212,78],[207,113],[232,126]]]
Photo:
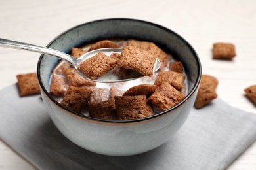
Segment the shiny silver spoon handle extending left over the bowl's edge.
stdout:
[[46,48],[46,47],[42,47],[42,46],[36,46],[33,44],[27,44],[24,42],[18,42],[18,41],[12,41],[12,40],[8,40],[8,39],[1,39],[0,38],[0,46],[3,47],[7,47],[7,48],[14,48],[14,49],[20,49],[20,50],[28,50],[31,52],[38,52],[41,54],[47,54],[49,56],[54,56],[56,58],[59,59],[63,59],[65,61],[67,61],[68,63],[72,64],[72,66],[75,66],[75,58],[73,58],[72,56],[64,53],[64,52],[60,52],[58,50],[54,50],[52,48]]

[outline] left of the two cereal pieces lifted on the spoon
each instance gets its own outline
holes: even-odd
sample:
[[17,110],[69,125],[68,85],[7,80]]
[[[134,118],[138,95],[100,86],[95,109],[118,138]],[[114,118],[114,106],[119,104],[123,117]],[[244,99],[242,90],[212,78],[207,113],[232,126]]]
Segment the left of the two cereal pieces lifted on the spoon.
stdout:
[[79,64],[78,69],[86,76],[95,80],[96,78],[104,75],[111,69],[113,69],[119,58],[116,56],[106,56],[102,52],[96,54],[92,58],[86,59]]

